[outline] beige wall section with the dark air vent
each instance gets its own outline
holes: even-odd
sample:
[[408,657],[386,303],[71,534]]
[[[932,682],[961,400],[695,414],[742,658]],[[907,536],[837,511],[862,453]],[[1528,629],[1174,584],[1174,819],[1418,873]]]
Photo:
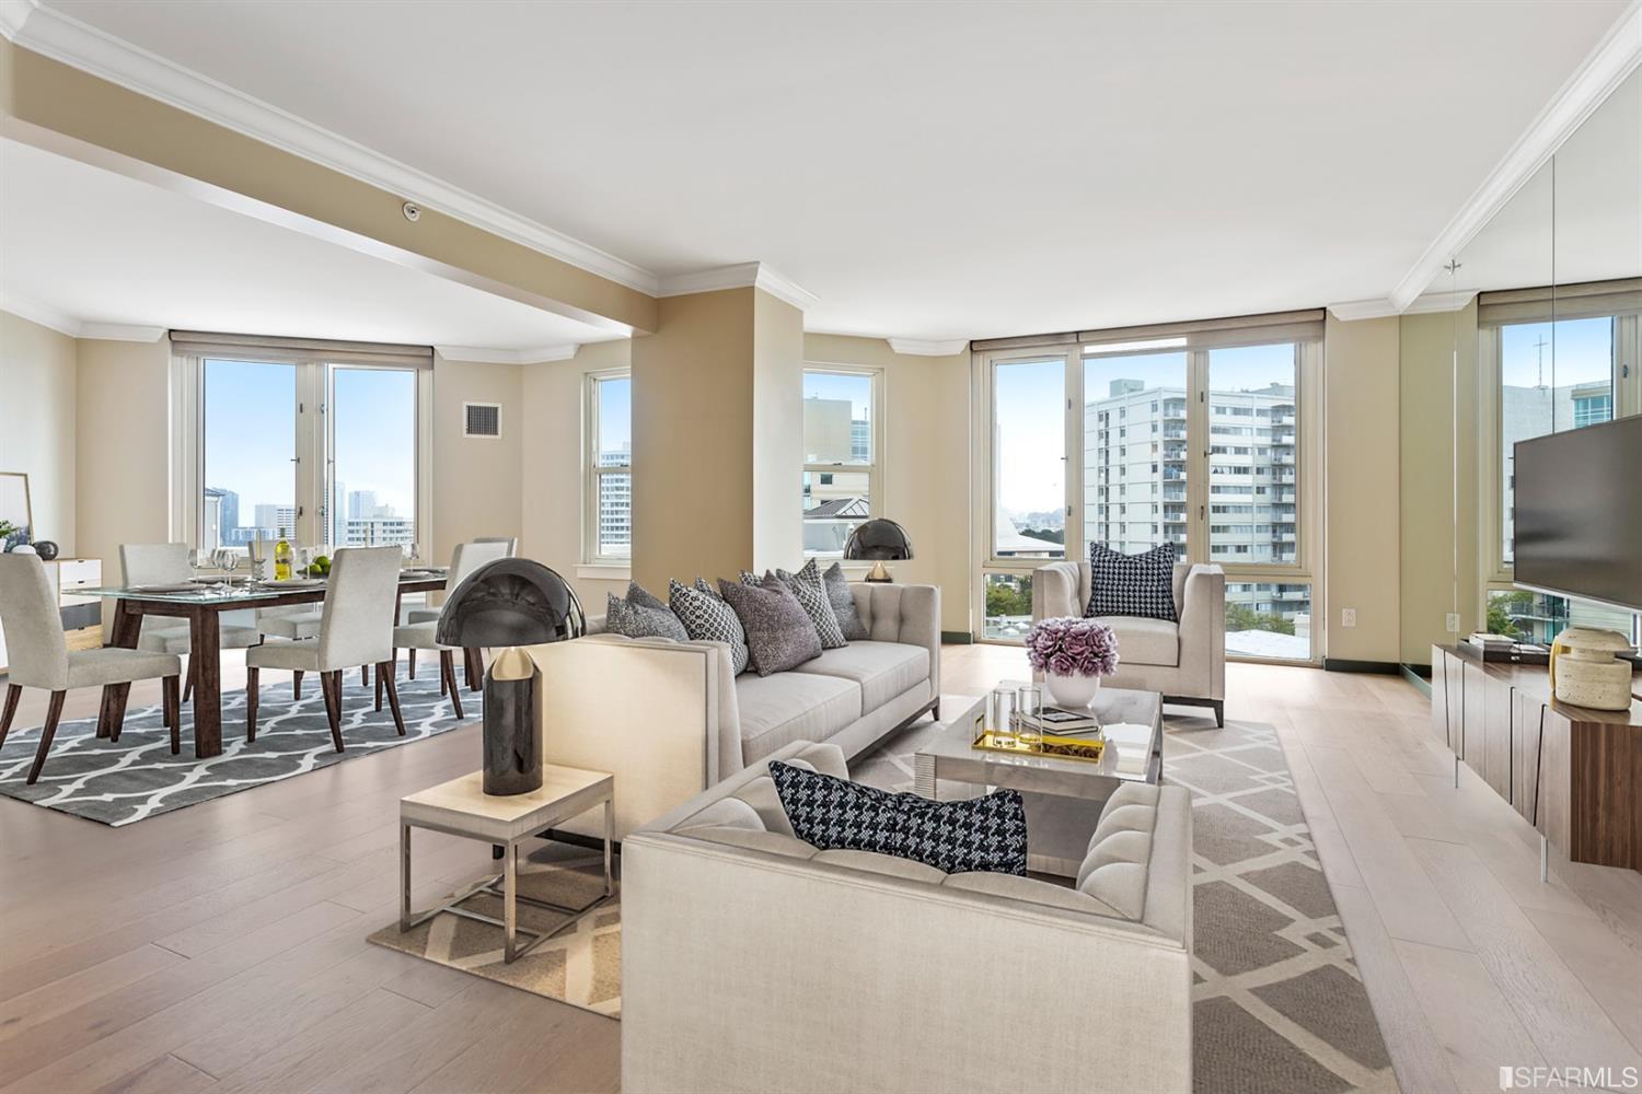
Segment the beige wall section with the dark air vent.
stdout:
[[[522,367],[433,358],[433,543],[432,558],[450,559],[476,536],[519,536],[521,453],[530,426],[524,415]],[[463,436],[463,402],[501,403],[499,438]],[[429,545],[424,545],[429,546]]]

